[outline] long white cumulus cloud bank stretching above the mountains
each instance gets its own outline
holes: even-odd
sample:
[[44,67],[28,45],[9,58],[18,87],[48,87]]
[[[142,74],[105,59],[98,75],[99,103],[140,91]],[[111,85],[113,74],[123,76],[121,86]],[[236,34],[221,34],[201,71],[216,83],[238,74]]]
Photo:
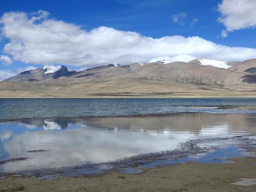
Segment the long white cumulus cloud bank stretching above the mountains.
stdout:
[[13,60],[50,65],[94,67],[101,64],[148,62],[154,57],[193,55],[221,61],[242,61],[256,55],[254,48],[228,47],[198,36],[165,36],[158,39],[136,32],[98,27],[90,31],[57,21],[48,12],[5,13],[1,34],[9,42],[3,52]]

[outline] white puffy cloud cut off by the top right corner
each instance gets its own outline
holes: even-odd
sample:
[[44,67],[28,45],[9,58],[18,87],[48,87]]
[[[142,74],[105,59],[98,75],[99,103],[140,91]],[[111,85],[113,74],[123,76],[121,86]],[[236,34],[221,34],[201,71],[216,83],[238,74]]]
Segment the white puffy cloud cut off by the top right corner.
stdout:
[[256,0],[222,0],[218,11],[227,31],[256,27]]

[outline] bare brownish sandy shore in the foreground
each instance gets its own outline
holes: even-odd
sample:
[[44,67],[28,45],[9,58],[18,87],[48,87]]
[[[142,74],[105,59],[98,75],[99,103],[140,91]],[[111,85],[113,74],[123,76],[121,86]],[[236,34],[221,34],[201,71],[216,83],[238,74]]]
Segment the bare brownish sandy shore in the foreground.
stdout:
[[[234,159],[235,164],[198,164],[189,162],[163,168],[146,169],[141,174],[113,172],[96,177],[0,179],[1,192],[253,192],[256,185],[230,183],[241,178],[256,178],[256,158]],[[256,184],[256,182],[255,182]]]

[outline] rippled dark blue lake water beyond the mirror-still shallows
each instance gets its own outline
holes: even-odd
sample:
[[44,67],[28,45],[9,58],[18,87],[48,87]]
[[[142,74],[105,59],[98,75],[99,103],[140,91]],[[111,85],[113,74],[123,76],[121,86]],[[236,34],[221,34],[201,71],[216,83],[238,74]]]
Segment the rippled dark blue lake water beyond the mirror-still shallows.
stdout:
[[256,110],[221,110],[214,106],[256,106],[256,98],[2,98],[0,119],[176,112],[256,113]]

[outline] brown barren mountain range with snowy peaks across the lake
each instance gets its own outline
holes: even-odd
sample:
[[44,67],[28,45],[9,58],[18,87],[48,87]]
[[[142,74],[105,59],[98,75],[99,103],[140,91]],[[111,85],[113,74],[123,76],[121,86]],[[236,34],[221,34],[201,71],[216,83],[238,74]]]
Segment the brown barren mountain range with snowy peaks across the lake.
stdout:
[[256,59],[225,62],[178,55],[81,71],[44,66],[0,82],[0,96],[256,96]]

